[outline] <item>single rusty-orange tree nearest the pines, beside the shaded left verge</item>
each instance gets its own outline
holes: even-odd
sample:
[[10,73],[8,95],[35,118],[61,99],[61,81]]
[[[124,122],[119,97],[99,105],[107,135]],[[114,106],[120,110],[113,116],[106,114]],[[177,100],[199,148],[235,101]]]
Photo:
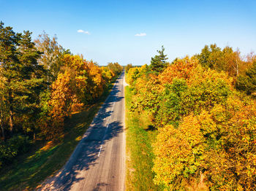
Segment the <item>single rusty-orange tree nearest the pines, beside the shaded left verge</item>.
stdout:
[[59,141],[64,133],[64,120],[72,112],[80,111],[83,104],[76,95],[75,72],[68,69],[60,73],[51,87],[48,117],[42,118],[41,129],[47,139]]

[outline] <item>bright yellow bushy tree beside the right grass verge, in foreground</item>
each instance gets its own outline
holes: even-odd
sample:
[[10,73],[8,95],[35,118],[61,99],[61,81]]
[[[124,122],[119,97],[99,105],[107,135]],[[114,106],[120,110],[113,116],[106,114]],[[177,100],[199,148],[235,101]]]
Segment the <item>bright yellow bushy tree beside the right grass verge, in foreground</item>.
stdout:
[[177,177],[195,174],[205,149],[203,141],[200,122],[194,115],[184,117],[178,128],[172,125],[160,128],[154,144],[156,158],[153,170],[157,174],[154,181],[175,189]]

